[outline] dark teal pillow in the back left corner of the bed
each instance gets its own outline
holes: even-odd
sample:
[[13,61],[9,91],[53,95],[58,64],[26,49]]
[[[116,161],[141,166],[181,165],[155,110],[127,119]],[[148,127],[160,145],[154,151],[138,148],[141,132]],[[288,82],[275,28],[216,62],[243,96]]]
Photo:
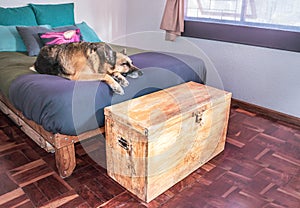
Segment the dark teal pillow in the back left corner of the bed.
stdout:
[[34,13],[29,6],[3,8],[0,7],[0,25],[37,25]]

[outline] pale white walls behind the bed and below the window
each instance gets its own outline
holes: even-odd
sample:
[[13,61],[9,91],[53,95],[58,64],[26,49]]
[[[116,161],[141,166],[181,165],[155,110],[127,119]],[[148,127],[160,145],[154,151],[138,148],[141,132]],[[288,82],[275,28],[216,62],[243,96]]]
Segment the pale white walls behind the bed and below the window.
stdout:
[[164,41],[159,26],[166,0],[1,0],[0,6],[31,2],[75,2],[76,22],[86,21],[103,40],[199,56],[208,67],[208,85],[300,117],[300,53],[195,38]]

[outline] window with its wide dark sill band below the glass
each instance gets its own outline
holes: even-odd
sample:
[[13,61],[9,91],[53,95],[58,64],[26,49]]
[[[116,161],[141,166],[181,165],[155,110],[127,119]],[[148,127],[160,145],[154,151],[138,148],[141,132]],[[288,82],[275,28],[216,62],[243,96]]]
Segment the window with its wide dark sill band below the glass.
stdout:
[[299,0],[185,0],[184,36],[300,51]]

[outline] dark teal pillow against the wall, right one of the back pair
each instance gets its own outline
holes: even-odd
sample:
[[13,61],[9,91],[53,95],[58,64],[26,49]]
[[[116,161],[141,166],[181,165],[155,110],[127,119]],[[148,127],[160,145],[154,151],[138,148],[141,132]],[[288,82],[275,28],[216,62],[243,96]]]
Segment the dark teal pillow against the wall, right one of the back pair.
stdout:
[[74,25],[74,3],[67,4],[29,4],[39,25],[59,27]]

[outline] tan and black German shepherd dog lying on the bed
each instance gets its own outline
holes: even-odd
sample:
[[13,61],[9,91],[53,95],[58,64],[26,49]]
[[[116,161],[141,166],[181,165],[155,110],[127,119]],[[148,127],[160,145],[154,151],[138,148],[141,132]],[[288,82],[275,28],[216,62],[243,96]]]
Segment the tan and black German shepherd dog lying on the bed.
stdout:
[[104,81],[120,95],[129,84],[127,75],[137,78],[143,74],[125,52],[116,52],[104,42],[44,46],[31,69],[70,80]]

